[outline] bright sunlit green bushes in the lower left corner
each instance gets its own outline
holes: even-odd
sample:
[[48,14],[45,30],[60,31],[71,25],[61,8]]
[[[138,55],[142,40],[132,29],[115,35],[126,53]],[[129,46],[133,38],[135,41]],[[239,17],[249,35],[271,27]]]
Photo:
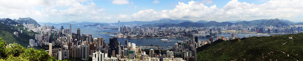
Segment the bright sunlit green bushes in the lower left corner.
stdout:
[[[26,49],[19,44],[8,44],[0,38],[0,61],[57,61],[45,50]],[[66,61],[66,60],[65,60]]]

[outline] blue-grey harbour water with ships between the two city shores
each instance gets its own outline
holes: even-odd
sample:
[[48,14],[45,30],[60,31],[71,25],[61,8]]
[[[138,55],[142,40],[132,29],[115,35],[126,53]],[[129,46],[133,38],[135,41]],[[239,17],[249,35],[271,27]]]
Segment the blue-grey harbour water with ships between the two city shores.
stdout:
[[[61,28],[61,25],[58,25],[58,26],[55,26],[57,28]],[[63,25],[64,28],[69,28],[69,25]],[[78,28],[78,25],[73,25],[72,26],[72,32],[73,33],[77,33],[77,28]],[[80,29],[81,29],[81,34],[92,34],[92,37],[94,38],[103,38],[105,40],[105,43],[109,43],[109,38],[112,38],[111,36],[108,36],[108,35],[116,35],[116,34],[103,34],[102,32],[118,32],[118,30],[108,30],[108,29],[97,29],[95,27],[83,27],[83,26],[80,26]],[[221,33],[221,34],[218,34],[220,35],[221,37],[231,37],[231,34],[224,34],[224,33]],[[247,35],[247,36],[245,36]],[[235,37],[240,37],[240,38],[243,38],[243,37],[248,37],[248,36],[257,36],[257,34],[235,34],[234,36]],[[258,36],[270,36],[270,34],[260,34]],[[217,37],[213,37],[213,38],[217,38]],[[125,44],[125,40],[128,40],[128,42],[131,42],[131,43],[135,43],[136,46],[146,46],[146,45],[153,45],[153,46],[156,46],[158,45],[159,47],[165,47],[166,48],[169,48],[168,46],[170,47],[173,47],[175,43],[177,43],[178,41],[184,41],[187,40],[187,39],[175,39],[175,38],[171,38],[171,39],[168,39],[168,41],[170,42],[167,42],[167,43],[164,43],[165,41],[161,41],[162,38],[148,38],[148,39],[125,39],[125,38],[118,38],[118,41],[121,41],[121,44],[124,45]],[[198,38],[198,40],[208,40],[209,38]]]

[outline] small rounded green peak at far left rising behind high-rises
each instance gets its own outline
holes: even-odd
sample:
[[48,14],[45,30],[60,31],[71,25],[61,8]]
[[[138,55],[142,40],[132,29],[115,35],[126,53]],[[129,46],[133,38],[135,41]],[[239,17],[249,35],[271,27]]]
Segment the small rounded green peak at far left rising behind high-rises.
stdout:
[[19,24],[34,24],[35,26],[41,26],[40,24],[37,23],[37,21],[35,21],[32,18],[19,18],[18,20],[14,19],[14,21],[17,21]]

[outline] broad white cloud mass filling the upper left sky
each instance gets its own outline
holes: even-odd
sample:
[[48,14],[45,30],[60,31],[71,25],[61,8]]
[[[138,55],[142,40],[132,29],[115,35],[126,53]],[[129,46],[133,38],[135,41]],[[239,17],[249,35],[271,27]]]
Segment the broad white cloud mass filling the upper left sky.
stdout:
[[[30,17],[38,22],[97,20],[103,18],[102,11],[89,0],[8,0],[0,2],[1,18]],[[9,3],[9,4],[8,4]],[[58,9],[61,8],[61,9]],[[63,9],[62,9],[63,8]],[[56,19],[54,19],[56,18]]]

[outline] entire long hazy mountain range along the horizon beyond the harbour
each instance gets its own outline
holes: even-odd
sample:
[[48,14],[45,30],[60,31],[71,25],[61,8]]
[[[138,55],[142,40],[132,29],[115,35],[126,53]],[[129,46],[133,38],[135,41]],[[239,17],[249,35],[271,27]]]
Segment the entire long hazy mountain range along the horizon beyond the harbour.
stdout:
[[[100,22],[88,22],[88,21],[84,21],[84,22],[75,22],[75,21],[71,21],[72,24],[80,24],[80,25],[94,25],[96,23],[99,24],[114,24],[114,25],[118,25],[119,23],[100,23]],[[183,23],[186,22],[186,23]],[[190,22],[191,24],[187,23]],[[38,22],[39,24],[48,24],[48,25],[52,25],[53,23],[43,23],[43,22]],[[154,20],[154,21],[129,21],[129,22],[120,22],[120,25],[132,25],[132,24],[142,24],[145,26],[164,26],[164,27],[171,27],[171,26],[183,26],[182,24],[189,24],[192,25],[194,23],[201,23],[199,24],[200,26],[198,27],[207,27],[207,26],[226,26],[226,25],[232,25],[232,24],[241,24],[243,26],[255,26],[255,25],[266,25],[266,26],[278,26],[278,24],[281,24],[282,26],[285,25],[289,25],[289,24],[296,24],[295,22],[289,21],[289,20],[283,20],[283,19],[260,19],[260,20],[253,20],[253,21],[243,21],[243,20],[237,20],[237,21],[225,21],[225,22],[217,22],[217,21],[205,21],[205,20],[200,20],[200,21],[190,21],[190,20],[173,20],[173,19],[169,19],[169,18],[164,18],[164,19],[160,19],[160,20]],[[177,25],[179,24],[179,25]],[[58,24],[53,24],[53,25],[69,25],[69,22],[63,22],[63,23],[58,23]],[[193,25],[193,26],[197,26]]]

